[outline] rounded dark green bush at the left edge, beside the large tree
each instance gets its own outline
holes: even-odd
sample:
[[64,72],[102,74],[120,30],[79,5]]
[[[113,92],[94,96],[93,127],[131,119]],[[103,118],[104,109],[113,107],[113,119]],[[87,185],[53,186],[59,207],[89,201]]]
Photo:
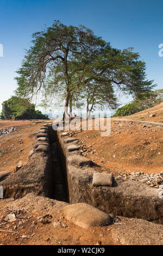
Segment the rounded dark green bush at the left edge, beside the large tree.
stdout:
[[[48,119],[41,111],[35,111],[35,105],[27,99],[12,96],[2,103],[2,114],[4,119]],[[40,118],[41,117],[41,118]]]

